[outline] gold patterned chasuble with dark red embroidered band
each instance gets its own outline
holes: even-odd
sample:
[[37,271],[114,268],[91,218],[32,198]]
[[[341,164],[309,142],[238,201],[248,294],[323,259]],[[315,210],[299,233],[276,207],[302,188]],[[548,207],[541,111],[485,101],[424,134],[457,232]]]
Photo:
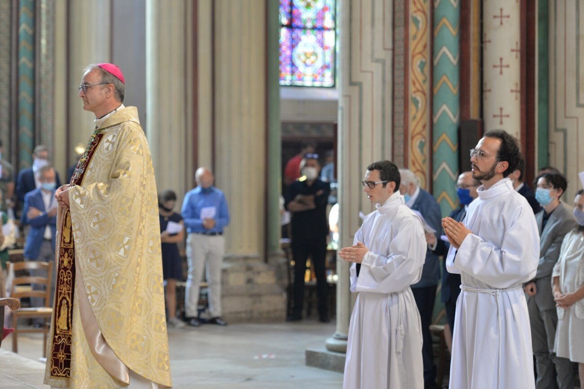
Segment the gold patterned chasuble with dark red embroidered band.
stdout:
[[93,133],[71,185],[44,383],[120,388],[138,374],[171,387],[157,190],[135,107]]

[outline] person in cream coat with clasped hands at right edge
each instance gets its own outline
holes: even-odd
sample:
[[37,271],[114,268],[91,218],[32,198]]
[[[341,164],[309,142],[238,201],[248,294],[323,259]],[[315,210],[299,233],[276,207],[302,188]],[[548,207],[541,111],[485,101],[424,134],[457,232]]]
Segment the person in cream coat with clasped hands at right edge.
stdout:
[[584,382],[584,190],[574,199],[578,226],[566,234],[552,273],[552,292],[558,310],[554,351],[578,363]]

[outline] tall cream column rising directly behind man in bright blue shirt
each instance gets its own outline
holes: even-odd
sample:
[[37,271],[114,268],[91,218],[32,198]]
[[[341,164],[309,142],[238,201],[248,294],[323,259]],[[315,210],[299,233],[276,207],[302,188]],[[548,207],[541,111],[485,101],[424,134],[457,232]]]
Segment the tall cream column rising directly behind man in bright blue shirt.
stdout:
[[265,1],[217,0],[214,8],[214,170],[230,205],[227,252],[260,258],[266,201]]

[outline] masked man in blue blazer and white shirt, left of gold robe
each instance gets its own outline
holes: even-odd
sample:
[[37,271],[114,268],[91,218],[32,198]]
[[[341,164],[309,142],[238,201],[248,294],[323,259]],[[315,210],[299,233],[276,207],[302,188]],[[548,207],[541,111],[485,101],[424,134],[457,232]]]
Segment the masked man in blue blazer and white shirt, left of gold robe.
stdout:
[[[26,235],[25,261],[55,261],[55,234],[57,234],[57,200],[54,198],[55,179],[53,167],[41,167],[39,170],[40,188],[34,189],[25,195],[25,206],[22,209],[22,217],[20,218],[20,223],[23,226],[30,225],[29,232]],[[54,296],[54,275],[51,284],[51,296]],[[40,297],[31,299],[33,307],[40,306],[41,302],[42,299]],[[53,297],[51,297],[50,303],[51,305],[53,304]]]

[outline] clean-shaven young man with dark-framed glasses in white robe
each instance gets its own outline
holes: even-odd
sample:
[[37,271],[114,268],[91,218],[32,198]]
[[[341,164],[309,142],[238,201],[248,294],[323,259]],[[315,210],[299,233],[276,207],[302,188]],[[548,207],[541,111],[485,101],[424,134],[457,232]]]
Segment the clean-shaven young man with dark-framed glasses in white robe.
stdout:
[[426,257],[422,220],[399,194],[394,163],[367,166],[364,192],[371,212],[339,257],[351,262],[351,291],[359,292],[349,324],[343,388],[424,387],[422,325],[410,285]]

